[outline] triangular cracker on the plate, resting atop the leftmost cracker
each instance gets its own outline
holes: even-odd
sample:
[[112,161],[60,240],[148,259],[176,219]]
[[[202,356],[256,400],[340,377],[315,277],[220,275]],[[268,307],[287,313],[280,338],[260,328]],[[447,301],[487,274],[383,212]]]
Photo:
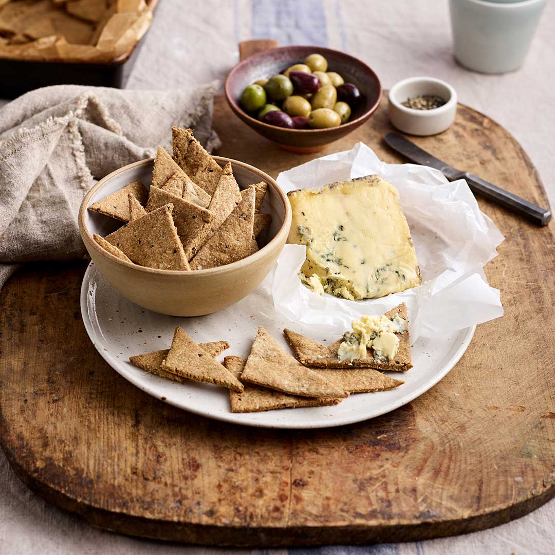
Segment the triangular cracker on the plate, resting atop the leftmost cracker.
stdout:
[[173,372],[189,380],[221,385],[233,391],[243,391],[243,384],[225,366],[197,345],[179,326],[175,328],[168,356],[162,362],[162,370]]

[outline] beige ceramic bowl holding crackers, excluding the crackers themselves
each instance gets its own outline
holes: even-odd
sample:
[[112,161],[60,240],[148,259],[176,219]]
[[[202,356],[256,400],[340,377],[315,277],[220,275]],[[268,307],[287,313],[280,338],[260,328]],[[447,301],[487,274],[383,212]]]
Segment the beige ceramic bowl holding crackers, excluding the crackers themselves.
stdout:
[[90,258],[105,279],[130,301],[146,309],[171,316],[200,316],[223,310],[243,299],[268,275],[278,258],[291,226],[291,207],[279,185],[267,174],[236,160],[214,157],[220,166],[231,162],[241,189],[266,181],[268,192],[261,212],[271,214],[268,229],[259,235],[264,245],[251,256],[233,264],[206,270],[155,270],[119,260],[93,239],[105,236],[121,223],[87,210],[87,206],[139,179],[150,186],[153,160],[141,160],[114,171],[85,196],[79,209],[79,230]]

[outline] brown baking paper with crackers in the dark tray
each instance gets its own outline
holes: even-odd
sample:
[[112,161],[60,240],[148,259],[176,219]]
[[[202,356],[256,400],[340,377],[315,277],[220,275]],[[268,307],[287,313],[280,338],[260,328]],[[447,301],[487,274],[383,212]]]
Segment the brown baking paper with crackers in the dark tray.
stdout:
[[152,22],[144,0],[0,0],[0,57],[111,62],[143,37]]

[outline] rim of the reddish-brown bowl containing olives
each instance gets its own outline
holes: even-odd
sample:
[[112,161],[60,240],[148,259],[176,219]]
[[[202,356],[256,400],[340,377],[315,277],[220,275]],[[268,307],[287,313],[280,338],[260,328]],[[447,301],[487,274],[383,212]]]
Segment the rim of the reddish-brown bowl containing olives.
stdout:
[[[241,66],[243,66],[247,61],[250,62],[253,58],[263,58],[264,56],[268,56],[269,52],[275,52],[276,50],[289,50],[291,48],[312,48],[315,51],[318,51],[317,53],[321,53],[322,51],[323,52],[332,52],[334,54],[339,54],[340,56],[344,56],[345,58],[351,59],[354,62],[361,64],[367,70],[367,72],[369,72],[371,75],[374,76],[374,78],[376,79],[376,82],[378,84],[379,92],[377,94],[376,102],[374,104],[372,104],[372,106],[369,109],[367,109],[362,115],[360,115],[358,118],[353,119],[350,122],[343,123],[341,125],[337,125],[337,127],[328,127],[328,128],[325,128],[325,129],[290,129],[290,128],[287,128],[287,127],[279,127],[278,125],[270,125],[269,123],[264,123],[264,122],[261,122],[259,119],[253,118],[251,115],[249,115],[244,110],[242,110],[241,107],[235,102],[235,100],[233,98],[231,98],[231,94],[230,94],[230,90],[229,90],[229,88],[230,88],[229,87],[229,81],[230,81],[231,76],[233,74],[235,74],[239,70],[239,68],[241,68]],[[376,108],[380,105],[382,94],[384,93],[384,89],[382,87],[380,78],[378,77],[378,75],[374,71],[374,69],[372,69],[366,63],[364,63],[360,58],[355,58],[354,56],[351,56],[351,54],[341,52],[340,50],[334,50],[332,48],[325,48],[325,47],[322,47],[322,46],[315,46],[315,45],[310,45],[310,44],[306,44],[306,45],[305,44],[292,44],[291,46],[281,46],[281,47],[278,47],[278,48],[270,48],[269,50],[265,50],[263,52],[258,52],[256,54],[253,54],[252,56],[249,56],[248,58],[245,58],[244,60],[241,60],[241,62],[239,62],[237,65],[235,65],[235,67],[233,69],[231,69],[231,71],[228,73],[228,77],[226,77],[226,79],[225,79],[224,92],[225,92],[225,99],[228,101],[228,104],[231,106],[231,109],[237,115],[240,115],[240,117],[245,117],[250,122],[253,122],[256,125],[260,125],[262,128],[280,129],[282,131],[288,131],[288,132],[294,132],[294,133],[326,133],[326,132],[330,132],[330,130],[339,129],[339,128],[349,129],[350,127],[358,127],[358,124],[364,123],[364,121],[367,118],[369,118],[370,115],[372,113],[374,113]]]

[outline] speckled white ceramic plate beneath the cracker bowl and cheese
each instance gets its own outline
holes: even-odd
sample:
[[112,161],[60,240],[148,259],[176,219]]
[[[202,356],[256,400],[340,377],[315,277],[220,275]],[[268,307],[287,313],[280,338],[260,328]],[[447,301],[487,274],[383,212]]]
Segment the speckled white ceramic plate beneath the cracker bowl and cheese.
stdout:
[[[282,410],[235,414],[229,409],[228,390],[209,384],[178,384],[145,372],[129,362],[129,356],[166,349],[175,326],[181,326],[194,341],[227,340],[230,349],[218,357],[239,355],[246,358],[258,326],[266,330],[287,352],[291,352],[282,330],[285,327],[310,336],[276,314],[267,290],[269,278],[258,289],[228,309],[199,317],[173,317],[150,312],[133,304],[115,291],[93,263],[81,287],[81,314],[85,329],[105,361],[126,380],[170,405],[195,414],[248,426],[267,428],[325,428],[360,422],[392,411],[437,384],[466,351],[476,326],[437,339],[420,339],[412,347],[414,367],[405,372],[390,372],[405,380],[392,391],[351,395],[331,407],[287,408]],[[331,340],[334,337],[314,337]]]

